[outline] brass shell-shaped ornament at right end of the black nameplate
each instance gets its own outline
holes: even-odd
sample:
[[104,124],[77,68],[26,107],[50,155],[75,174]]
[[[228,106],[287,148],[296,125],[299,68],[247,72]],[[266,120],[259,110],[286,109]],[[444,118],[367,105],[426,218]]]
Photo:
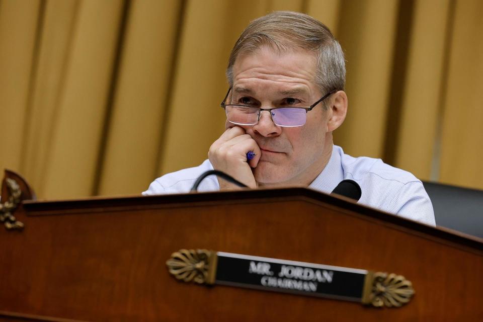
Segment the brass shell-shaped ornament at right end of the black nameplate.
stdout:
[[399,307],[408,303],[415,293],[412,283],[404,276],[377,272],[368,274],[368,277],[366,289],[370,288],[370,291],[365,296],[367,304]]

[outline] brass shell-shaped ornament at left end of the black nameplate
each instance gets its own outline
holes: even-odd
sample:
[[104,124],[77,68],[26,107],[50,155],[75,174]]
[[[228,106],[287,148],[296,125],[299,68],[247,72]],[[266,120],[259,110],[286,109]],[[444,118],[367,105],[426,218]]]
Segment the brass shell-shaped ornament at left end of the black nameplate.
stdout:
[[180,250],[166,262],[168,269],[177,279],[199,284],[213,284],[216,254],[208,250]]

